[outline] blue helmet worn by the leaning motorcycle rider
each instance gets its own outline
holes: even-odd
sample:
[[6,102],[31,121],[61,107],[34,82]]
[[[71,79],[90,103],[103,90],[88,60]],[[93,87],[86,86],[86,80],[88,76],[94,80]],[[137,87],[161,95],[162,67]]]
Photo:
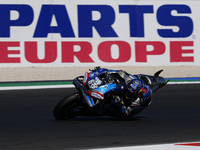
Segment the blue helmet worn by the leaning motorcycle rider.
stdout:
[[126,87],[126,93],[125,98],[131,99],[137,96],[138,94],[142,93],[144,89],[144,83],[140,79],[133,79],[131,80],[127,87]]

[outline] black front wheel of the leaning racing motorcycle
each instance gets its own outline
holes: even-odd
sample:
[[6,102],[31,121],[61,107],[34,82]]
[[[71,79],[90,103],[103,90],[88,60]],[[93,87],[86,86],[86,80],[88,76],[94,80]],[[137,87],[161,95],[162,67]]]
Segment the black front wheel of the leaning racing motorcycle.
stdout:
[[67,120],[77,116],[76,108],[79,98],[76,94],[63,98],[54,108],[53,114],[57,120]]

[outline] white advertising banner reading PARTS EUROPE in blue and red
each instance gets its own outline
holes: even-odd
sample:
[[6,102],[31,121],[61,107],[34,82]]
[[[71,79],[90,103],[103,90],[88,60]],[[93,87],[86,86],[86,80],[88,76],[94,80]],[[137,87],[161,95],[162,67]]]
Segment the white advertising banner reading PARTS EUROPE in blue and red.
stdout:
[[0,67],[200,66],[199,6],[0,0]]

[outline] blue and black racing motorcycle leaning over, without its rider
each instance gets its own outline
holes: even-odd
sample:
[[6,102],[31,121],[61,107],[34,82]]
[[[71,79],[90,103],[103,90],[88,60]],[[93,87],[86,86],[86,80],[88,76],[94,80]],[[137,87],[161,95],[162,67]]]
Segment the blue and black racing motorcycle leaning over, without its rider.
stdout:
[[[168,81],[159,74],[163,70],[157,71],[153,76],[146,74],[134,75],[147,84],[152,93],[165,86]],[[111,101],[119,90],[119,78],[106,74],[107,69],[95,67],[85,76],[78,76],[73,80],[77,92],[63,98],[54,108],[54,116],[57,120],[67,120],[77,116],[112,116],[122,117],[119,107]],[[118,90],[116,91],[116,88]],[[114,92],[115,91],[115,92]],[[132,112],[129,116],[136,113]]]

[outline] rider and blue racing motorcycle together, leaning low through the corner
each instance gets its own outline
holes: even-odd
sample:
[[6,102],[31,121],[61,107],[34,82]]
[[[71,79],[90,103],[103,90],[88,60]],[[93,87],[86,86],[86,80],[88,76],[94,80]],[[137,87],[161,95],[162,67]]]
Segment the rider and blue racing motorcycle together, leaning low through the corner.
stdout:
[[127,117],[141,112],[155,91],[168,82],[159,74],[131,75],[123,70],[96,67],[73,80],[77,92],[63,98],[54,108],[57,120],[77,116]]

